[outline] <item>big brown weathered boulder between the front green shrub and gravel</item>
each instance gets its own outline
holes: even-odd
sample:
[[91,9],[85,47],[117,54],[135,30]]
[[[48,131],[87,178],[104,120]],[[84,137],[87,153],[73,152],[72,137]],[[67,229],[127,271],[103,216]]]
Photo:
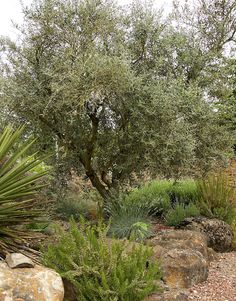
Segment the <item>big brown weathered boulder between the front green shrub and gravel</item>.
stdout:
[[174,289],[189,288],[208,276],[205,235],[186,230],[161,231],[148,241],[163,270],[163,280]]

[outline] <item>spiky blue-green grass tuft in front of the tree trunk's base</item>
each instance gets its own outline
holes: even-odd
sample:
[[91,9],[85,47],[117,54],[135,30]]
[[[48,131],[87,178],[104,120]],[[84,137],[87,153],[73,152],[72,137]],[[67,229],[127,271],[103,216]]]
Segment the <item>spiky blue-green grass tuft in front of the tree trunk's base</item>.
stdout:
[[111,218],[109,236],[127,239],[132,237],[140,241],[152,235],[149,210],[142,203],[127,203],[119,198],[110,200],[108,206]]

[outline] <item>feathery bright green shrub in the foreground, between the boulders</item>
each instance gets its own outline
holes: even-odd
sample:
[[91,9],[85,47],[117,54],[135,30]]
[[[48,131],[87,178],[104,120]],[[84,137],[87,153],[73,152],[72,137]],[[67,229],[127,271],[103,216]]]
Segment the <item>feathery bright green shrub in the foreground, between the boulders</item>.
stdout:
[[48,246],[43,263],[72,283],[78,301],[141,301],[156,291],[160,271],[150,261],[152,250],[141,244],[130,249],[127,241],[106,234],[102,224],[82,222],[78,229],[71,221],[69,232],[58,230],[59,240]]

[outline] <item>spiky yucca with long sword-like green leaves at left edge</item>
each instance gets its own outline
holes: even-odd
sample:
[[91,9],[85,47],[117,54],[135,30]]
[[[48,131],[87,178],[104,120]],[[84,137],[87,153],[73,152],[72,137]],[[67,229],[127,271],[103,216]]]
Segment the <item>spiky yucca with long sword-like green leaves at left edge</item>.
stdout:
[[[34,140],[20,144],[24,127],[13,130],[8,126],[0,135],[0,253],[24,248],[31,233],[20,227],[40,215],[34,210],[34,197],[42,185],[37,180],[47,171],[32,170],[42,159],[37,153],[27,155]],[[18,145],[20,146],[18,147]]]

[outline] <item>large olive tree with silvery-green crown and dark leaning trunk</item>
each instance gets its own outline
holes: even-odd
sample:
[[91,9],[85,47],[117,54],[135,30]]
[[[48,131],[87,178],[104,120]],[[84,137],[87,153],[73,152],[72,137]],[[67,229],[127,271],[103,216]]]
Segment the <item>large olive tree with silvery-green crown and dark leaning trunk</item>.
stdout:
[[176,6],[166,20],[145,3],[35,0],[20,42],[1,43],[2,112],[103,197],[134,174],[206,173],[231,152],[215,104],[232,90],[235,1]]

